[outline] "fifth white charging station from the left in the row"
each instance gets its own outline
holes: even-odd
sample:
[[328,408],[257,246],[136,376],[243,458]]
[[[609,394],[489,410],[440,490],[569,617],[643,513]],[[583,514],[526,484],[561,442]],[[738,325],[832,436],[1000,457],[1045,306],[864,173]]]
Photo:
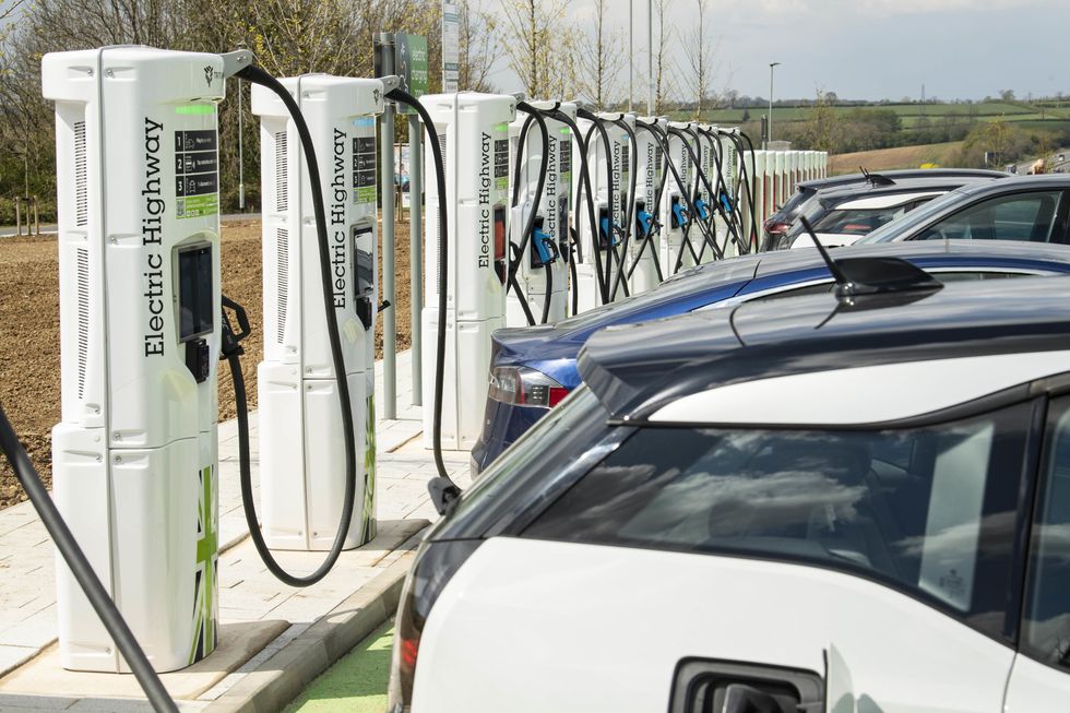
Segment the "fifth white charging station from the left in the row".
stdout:
[[[606,112],[588,115],[594,116],[594,119],[590,119],[584,118],[584,112],[581,111],[579,116],[581,118],[576,120],[576,127],[586,142],[587,175],[593,195],[586,195],[585,189],[576,181],[572,203],[580,206],[583,201],[593,202],[598,234],[592,235],[590,226],[580,221],[576,234],[580,250],[573,282],[578,313],[607,301],[603,295],[603,284],[611,293],[619,274],[621,235],[626,228],[627,215],[632,212],[628,203],[632,159],[631,140],[615,122],[623,121],[632,130],[635,126],[635,117],[632,115]],[[618,290],[617,295],[623,297],[625,290]]]

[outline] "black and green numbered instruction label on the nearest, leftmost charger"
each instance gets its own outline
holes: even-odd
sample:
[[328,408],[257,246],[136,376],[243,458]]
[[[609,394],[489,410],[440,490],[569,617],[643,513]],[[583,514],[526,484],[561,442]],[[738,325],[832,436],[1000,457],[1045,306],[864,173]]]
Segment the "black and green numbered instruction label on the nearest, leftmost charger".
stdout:
[[175,132],[175,215],[219,212],[219,134],[215,129]]

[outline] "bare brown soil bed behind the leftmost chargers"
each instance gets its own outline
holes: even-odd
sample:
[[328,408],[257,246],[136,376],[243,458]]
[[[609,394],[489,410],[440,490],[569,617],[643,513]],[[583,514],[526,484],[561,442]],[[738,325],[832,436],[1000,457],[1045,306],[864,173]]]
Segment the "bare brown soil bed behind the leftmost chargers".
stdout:
[[[395,228],[397,348],[409,346],[408,223]],[[242,371],[250,407],[257,402],[257,364],[263,358],[260,222],[223,225],[223,292],[246,307],[252,334],[242,344]],[[380,269],[380,284],[382,275]],[[382,320],[376,330],[382,356]],[[56,239],[0,238],[0,405],[51,487],[51,429],[60,418],[59,265]],[[219,368],[219,418],[235,415],[234,385]],[[0,508],[25,500],[5,459],[0,457]]]

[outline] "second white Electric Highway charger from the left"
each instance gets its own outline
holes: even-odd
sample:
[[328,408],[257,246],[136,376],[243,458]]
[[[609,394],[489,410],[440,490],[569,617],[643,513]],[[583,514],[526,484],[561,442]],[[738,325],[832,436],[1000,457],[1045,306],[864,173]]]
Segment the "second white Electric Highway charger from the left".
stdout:
[[[360,459],[345,548],[374,537],[374,321],[377,314],[376,117],[379,80],[308,74],[280,80],[316,142],[332,239],[333,307]],[[261,117],[264,360],[258,368],[260,494],[273,549],[330,550],[345,490],[337,382],[320,285],[308,166],[282,100],[252,87]],[[330,158],[328,158],[330,157]],[[369,428],[371,426],[371,428]],[[373,467],[373,464],[372,464]]]

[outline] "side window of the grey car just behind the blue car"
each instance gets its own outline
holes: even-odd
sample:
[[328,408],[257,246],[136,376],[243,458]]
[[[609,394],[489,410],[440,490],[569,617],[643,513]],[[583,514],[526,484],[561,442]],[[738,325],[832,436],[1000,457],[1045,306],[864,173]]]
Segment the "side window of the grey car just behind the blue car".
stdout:
[[1048,242],[1061,197],[1061,191],[1000,195],[939,221],[915,239]]

